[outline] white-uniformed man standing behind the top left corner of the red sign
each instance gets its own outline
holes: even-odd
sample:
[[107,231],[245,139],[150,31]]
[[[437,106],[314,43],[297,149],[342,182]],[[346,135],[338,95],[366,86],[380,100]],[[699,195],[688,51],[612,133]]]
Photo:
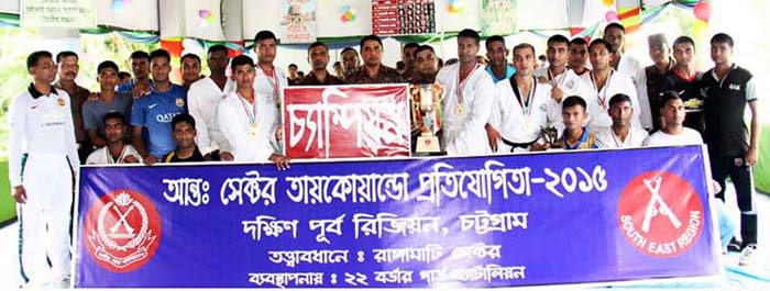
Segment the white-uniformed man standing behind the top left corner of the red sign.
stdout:
[[271,31],[261,31],[254,35],[254,51],[257,60],[254,89],[260,96],[273,98],[276,107],[279,107],[283,89],[288,86],[288,78],[283,69],[273,65],[277,44],[277,38]]

